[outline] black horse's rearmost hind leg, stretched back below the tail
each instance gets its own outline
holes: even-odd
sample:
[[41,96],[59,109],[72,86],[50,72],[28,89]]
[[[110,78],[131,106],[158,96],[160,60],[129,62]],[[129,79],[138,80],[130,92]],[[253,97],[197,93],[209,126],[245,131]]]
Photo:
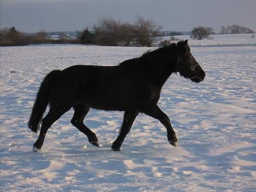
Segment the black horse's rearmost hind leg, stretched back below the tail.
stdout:
[[63,110],[63,109],[56,108],[56,107],[51,107],[50,108],[48,114],[42,120],[42,127],[40,129],[39,137],[38,137],[36,143],[34,143],[34,146],[33,146],[34,147],[33,148],[34,152],[36,152],[37,149],[42,148],[46,132],[48,131],[50,126],[53,125],[53,123],[56,120],[58,120],[61,117],[61,115],[63,115],[68,110],[69,110],[69,108],[67,110]]

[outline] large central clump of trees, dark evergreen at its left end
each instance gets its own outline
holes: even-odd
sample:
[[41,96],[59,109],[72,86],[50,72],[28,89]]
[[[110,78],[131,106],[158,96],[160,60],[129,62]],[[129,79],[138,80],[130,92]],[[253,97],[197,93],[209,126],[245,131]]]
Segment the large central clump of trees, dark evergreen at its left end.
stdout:
[[139,15],[133,24],[113,18],[101,18],[91,31],[86,28],[79,39],[82,44],[151,46],[159,40],[161,29],[152,19]]

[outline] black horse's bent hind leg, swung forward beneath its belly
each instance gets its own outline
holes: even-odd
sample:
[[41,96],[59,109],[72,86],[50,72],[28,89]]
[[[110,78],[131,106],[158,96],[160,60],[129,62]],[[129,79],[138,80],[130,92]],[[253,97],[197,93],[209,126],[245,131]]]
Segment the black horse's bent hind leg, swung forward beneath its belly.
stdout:
[[90,107],[82,104],[76,104],[74,107],[74,115],[71,120],[72,125],[77,127],[77,129],[83,132],[87,137],[89,142],[99,147],[98,139],[94,132],[92,132],[88,127],[86,127],[83,123],[85,116],[88,114]]

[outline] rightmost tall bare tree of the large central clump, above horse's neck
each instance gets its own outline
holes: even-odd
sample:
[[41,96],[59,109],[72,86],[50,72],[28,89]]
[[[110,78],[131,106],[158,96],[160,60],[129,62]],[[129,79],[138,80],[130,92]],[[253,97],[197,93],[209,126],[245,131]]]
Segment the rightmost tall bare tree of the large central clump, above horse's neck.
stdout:
[[162,26],[156,24],[152,19],[144,19],[137,15],[135,26],[137,42],[142,46],[151,46],[159,41],[158,37],[160,37]]

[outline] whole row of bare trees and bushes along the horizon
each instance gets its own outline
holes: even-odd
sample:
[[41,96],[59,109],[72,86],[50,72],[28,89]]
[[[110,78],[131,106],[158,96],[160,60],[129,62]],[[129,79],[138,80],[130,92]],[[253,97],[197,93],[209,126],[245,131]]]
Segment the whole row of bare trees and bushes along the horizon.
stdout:
[[[52,39],[45,31],[39,31],[34,34],[26,35],[17,31],[15,27],[4,28],[0,30],[0,46],[11,45],[29,45],[29,44],[95,44],[105,46],[152,46],[160,42],[162,26],[156,24],[152,19],[145,19],[137,15],[133,23],[122,22],[113,18],[101,18],[97,24],[86,27],[80,32],[79,37],[75,39],[68,38],[64,33],[59,39]],[[221,34],[234,33],[255,33],[250,28],[232,25],[221,26]],[[180,32],[170,32],[171,36],[179,35]],[[212,27],[194,27],[191,31],[191,38],[203,39],[210,38],[210,34],[216,34]],[[171,43],[173,39],[161,42],[161,45]],[[175,40],[175,39],[174,39]]]

